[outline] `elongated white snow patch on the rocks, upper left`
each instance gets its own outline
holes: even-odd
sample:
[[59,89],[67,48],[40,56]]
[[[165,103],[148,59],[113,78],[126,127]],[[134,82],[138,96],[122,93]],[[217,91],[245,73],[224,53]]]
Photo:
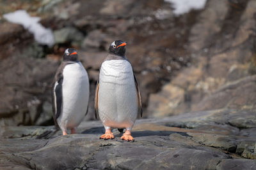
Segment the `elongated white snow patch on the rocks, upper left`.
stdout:
[[45,28],[39,23],[40,17],[31,17],[25,10],[6,13],[3,17],[9,22],[23,25],[25,29],[28,29],[28,31],[34,35],[34,38],[38,43],[48,46],[54,44],[52,30]]

